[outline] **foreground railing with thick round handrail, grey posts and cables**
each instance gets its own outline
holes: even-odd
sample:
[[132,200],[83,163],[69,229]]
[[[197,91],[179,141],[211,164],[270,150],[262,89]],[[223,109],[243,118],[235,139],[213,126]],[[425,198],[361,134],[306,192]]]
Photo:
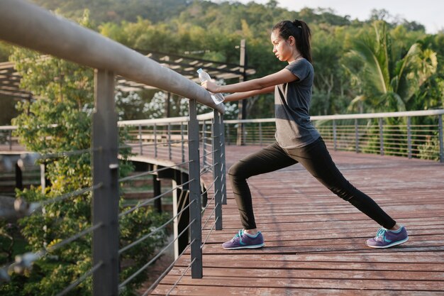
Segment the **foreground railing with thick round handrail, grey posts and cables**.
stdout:
[[[2,278],[9,278],[12,271],[21,271],[28,268],[39,258],[43,258],[56,248],[66,246],[72,241],[85,235],[92,234],[92,267],[80,276],[73,283],[58,292],[57,295],[65,295],[72,289],[83,283],[89,276],[92,277],[92,294],[97,295],[118,295],[128,283],[133,280],[143,269],[147,268],[158,256],[133,275],[130,275],[122,283],[118,283],[119,275],[119,256],[135,244],[148,236],[135,238],[133,243],[119,250],[118,240],[118,221],[122,216],[128,214],[130,210],[119,213],[119,183],[130,180],[131,177],[118,179],[118,124],[114,102],[114,82],[116,75],[125,77],[128,80],[148,84],[167,92],[178,94],[181,97],[189,98],[189,118],[187,121],[187,140],[174,141],[174,133],[171,126],[167,135],[168,158],[173,159],[173,144],[183,145],[187,143],[188,159],[183,162],[171,165],[171,169],[179,168],[181,165],[188,165],[186,182],[180,182],[173,187],[173,192],[187,190],[189,192],[189,204],[184,207],[179,214],[189,211],[190,221],[187,229],[190,233],[189,249],[192,261],[189,268],[192,270],[192,278],[202,277],[202,223],[201,223],[201,194],[209,194],[210,187],[213,189],[213,199],[208,204],[213,204],[214,222],[211,229],[221,229],[221,204],[222,194],[224,192],[225,168],[223,153],[223,104],[213,103],[208,92],[196,83],[187,80],[166,67],[162,67],[157,62],[148,57],[140,55],[135,51],[126,48],[124,45],[116,43],[109,38],[105,38],[98,33],[82,28],[64,18],[54,16],[49,11],[40,9],[38,6],[28,4],[22,0],[3,0],[0,2],[0,10],[8,11],[0,18],[0,40],[13,43],[15,45],[38,50],[41,53],[54,55],[65,60],[77,62],[79,65],[92,67],[94,72],[94,114],[92,116],[92,143],[88,151],[67,151],[63,155],[72,153],[91,153],[92,156],[92,185],[82,188],[75,192],[70,192],[59,197],[47,199],[43,202],[33,202],[28,204],[25,201],[18,200],[15,210],[21,214],[33,214],[36,209],[47,204],[60,202],[65,199],[92,192],[92,223],[87,229],[83,229],[74,236],[63,239],[51,247],[43,248],[23,256],[18,256],[15,263],[7,265],[0,269]],[[87,46],[85,46],[87,45]],[[212,165],[208,165],[204,160],[204,167],[201,168],[201,156],[199,155],[199,122],[196,114],[196,104],[205,104],[214,109],[211,126],[213,133],[209,136],[206,129],[202,130],[204,143],[211,138],[213,149]],[[131,124],[123,124],[131,125]],[[140,127],[140,129],[142,129]],[[141,131],[140,131],[141,133]],[[140,138],[141,139],[141,138]],[[11,136],[9,136],[11,143]],[[155,149],[158,148],[157,141]],[[132,145],[128,143],[128,145]],[[138,143],[141,151],[145,153],[144,144]],[[184,149],[182,149],[183,151]],[[207,151],[205,149],[205,151]],[[157,151],[159,153],[159,151]],[[155,155],[161,158],[160,155]],[[208,156],[208,155],[205,155]],[[184,158],[184,153],[182,153]],[[158,172],[158,170],[157,170]],[[213,172],[213,182],[211,186],[202,192],[201,173]],[[146,173],[155,173],[152,172]],[[160,198],[160,197],[156,197]],[[146,202],[148,203],[148,202]],[[140,203],[136,207],[143,207]],[[207,205],[208,206],[208,205]],[[207,207],[206,206],[206,207]],[[205,207],[205,208],[206,208]],[[211,219],[211,218],[209,218]],[[204,224],[206,226],[206,224]],[[184,235],[187,231],[184,229],[177,237]],[[163,250],[162,250],[163,251]],[[160,251],[160,254],[162,253]],[[182,251],[182,254],[186,250]],[[181,255],[182,255],[181,254]],[[187,268],[187,270],[189,269]],[[187,272],[187,270],[185,272]],[[157,281],[158,283],[158,281]],[[174,288],[174,286],[173,286]],[[172,289],[173,289],[172,288]],[[147,293],[149,290],[147,290]]]

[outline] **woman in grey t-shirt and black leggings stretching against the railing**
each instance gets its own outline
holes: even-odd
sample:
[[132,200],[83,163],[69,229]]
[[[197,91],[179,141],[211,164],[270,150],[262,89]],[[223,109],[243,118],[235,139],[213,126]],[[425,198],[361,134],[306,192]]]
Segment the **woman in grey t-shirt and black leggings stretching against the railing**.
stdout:
[[231,241],[223,243],[223,248],[265,246],[263,236],[256,228],[250,188],[246,180],[253,175],[296,163],[301,163],[329,190],[382,226],[376,237],[367,240],[367,246],[389,248],[409,239],[404,226],[397,224],[373,199],[345,180],[333,163],[320,134],[310,122],[309,105],[314,76],[310,39],[311,31],[304,21],[279,22],[271,34],[273,53],[279,60],[288,62],[287,67],[272,75],[236,84],[218,86],[210,81],[202,83],[202,87],[210,92],[232,93],[225,97],[228,102],[274,92],[276,142],[239,160],[228,172],[244,229]]

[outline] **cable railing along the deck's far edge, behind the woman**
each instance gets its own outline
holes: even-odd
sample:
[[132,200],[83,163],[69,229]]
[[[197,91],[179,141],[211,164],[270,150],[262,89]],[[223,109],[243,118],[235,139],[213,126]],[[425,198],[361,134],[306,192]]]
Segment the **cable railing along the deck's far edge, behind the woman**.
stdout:
[[[312,116],[328,148],[356,153],[378,153],[444,162],[444,110]],[[243,143],[274,142],[276,119],[227,120],[226,143],[237,140],[237,127],[244,125]]]

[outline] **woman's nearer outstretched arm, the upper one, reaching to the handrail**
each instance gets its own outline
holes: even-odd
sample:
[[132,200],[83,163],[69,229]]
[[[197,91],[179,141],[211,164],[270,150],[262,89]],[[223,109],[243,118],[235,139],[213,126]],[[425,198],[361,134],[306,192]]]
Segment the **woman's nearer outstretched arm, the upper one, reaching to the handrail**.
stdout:
[[253,90],[266,89],[268,87],[274,87],[277,84],[283,84],[298,80],[299,78],[294,76],[292,72],[287,69],[280,70],[271,75],[267,75],[255,80],[248,80],[245,82],[239,82],[228,85],[217,85],[214,82],[206,81],[202,82],[202,87],[210,92],[250,92]]

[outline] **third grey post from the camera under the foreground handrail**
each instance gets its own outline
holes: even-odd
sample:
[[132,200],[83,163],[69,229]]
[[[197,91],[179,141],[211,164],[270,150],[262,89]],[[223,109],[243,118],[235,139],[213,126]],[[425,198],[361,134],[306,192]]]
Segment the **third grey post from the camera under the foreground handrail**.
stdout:
[[213,111],[213,180],[214,180],[214,219],[216,230],[222,230],[222,145],[221,145],[221,115]]

